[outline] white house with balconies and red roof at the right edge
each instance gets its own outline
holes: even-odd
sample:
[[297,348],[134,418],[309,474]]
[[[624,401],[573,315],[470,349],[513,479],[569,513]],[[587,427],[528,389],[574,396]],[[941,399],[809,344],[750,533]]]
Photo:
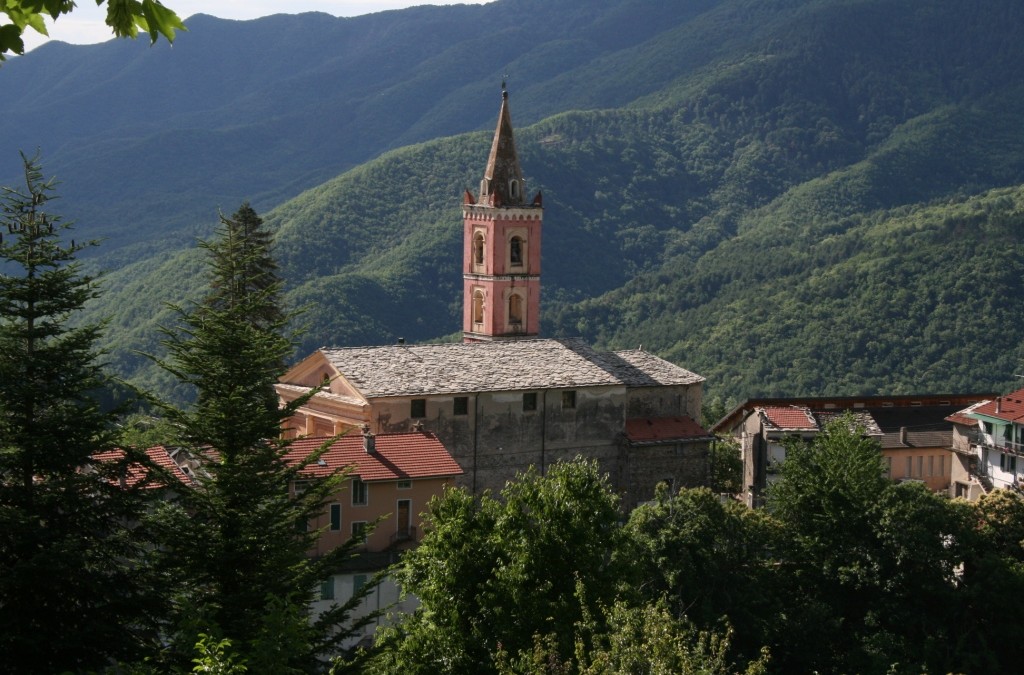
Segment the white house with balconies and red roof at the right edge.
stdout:
[[990,396],[950,415],[963,469],[954,496],[977,499],[996,489],[1024,489],[1024,389]]

